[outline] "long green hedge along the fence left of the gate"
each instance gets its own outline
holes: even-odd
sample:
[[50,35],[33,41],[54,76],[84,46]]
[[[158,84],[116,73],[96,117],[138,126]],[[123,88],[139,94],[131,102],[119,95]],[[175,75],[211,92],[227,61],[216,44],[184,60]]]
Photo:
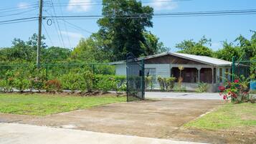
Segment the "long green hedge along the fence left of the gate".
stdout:
[[126,90],[125,76],[93,75],[93,72],[86,68],[72,69],[66,74],[60,74],[57,77],[51,78],[51,80],[47,80],[44,68],[29,67],[27,70],[8,70],[0,78],[0,91],[47,90],[53,92],[71,90],[75,92],[79,90],[82,92],[92,92],[100,90],[103,92],[120,92]]

